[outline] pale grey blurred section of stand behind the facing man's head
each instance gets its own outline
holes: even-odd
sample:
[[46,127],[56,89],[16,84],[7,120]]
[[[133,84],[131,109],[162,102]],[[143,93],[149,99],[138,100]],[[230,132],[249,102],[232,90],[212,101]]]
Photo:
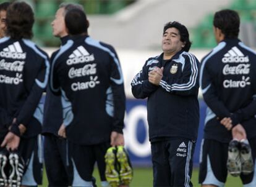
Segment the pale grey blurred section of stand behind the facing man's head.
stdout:
[[176,20],[189,29],[195,28],[208,14],[220,7],[229,6],[231,2],[232,0],[138,0],[113,15],[89,15],[90,34],[93,38],[100,38],[122,49],[161,49],[164,23]]

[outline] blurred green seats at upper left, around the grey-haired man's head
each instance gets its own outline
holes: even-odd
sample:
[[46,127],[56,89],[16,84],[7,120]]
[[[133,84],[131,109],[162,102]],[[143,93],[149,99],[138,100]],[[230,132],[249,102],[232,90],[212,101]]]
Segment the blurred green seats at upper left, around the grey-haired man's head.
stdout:
[[[82,4],[89,15],[111,15],[128,6],[135,0],[23,0],[33,7],[35,12],[34,38],[40,46],[59,46],[59,39],[53,38],[51,22],[62,2]],[[1,0],[0,2],[5,2]],[[12,2],[12,1],[11,1]]]

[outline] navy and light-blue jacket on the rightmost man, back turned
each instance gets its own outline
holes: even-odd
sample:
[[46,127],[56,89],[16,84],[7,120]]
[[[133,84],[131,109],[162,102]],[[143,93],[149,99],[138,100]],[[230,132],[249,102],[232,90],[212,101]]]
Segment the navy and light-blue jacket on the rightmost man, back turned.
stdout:
[[207,103],[205,138],[229,142],[220,120],[242,124],[247,138],[256,136],[256,53],[239,39],[224,39],[202,59],[200,86]]

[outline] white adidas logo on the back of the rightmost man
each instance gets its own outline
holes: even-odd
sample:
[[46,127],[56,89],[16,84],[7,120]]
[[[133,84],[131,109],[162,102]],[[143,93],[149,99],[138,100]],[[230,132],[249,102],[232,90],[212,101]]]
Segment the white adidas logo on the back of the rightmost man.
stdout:
[[223,63],[239,63],[239,62],[249,62],[249,57],[244,56],[242,54],[241,50],[239,50],[236,46],[232,47],[226,54],[224,54],[224,57],[222,58]]

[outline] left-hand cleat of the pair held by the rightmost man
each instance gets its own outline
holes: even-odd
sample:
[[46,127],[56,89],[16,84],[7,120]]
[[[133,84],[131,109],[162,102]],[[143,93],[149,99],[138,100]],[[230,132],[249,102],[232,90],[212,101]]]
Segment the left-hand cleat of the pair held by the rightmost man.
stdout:
[[[237,153],[236,158],[233,158],[234,153]],[[241,174],[241,161],[240,161],[240,154],[238,148],[229,148],[228,149],[228,161],[227,161],[227,168],[229,173],[233,177],[237,177]]]

